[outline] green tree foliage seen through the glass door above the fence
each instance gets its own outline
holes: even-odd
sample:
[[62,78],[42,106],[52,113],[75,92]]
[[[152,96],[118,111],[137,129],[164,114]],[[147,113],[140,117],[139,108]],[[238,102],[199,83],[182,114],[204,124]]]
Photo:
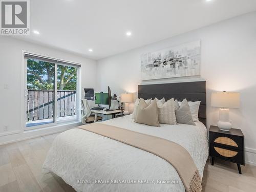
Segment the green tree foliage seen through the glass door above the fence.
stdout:
[[[58,90],[76,90],[77,69],[58,65],[57,88]],[[53,90],[55,64],[35,59],[27,62],[27,89]]]

